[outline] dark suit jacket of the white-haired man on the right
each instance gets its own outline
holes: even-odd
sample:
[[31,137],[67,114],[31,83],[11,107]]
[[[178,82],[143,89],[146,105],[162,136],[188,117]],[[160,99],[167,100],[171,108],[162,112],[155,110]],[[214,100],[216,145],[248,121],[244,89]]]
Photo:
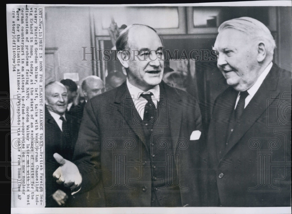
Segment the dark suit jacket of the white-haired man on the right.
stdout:
[[273,64],[219,154],[237,95],[229,87],[213,107],[203,205],[290,206],[291,72]]

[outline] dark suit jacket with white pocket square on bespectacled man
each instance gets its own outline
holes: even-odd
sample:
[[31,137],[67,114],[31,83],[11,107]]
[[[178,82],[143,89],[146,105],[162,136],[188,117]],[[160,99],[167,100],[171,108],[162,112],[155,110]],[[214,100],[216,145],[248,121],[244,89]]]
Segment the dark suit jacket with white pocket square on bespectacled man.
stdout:
[[[160,94],[167,100],[165,110],[168,111],[169,120],[165,122],[170,127],[172,137],[166,141],[176,151],[180,148],[180,159],[176,160],[180,167],[179,184],[183,190],[188,188],[188,191],[181,192],[182,205],[200,206],[197,171],[201,139],[190,140],[194,130],[202,132],[198,102],[188,93],[164,82],[159,86]],[[133,100],[127,95],[129,91],[124,82],[86,103],[74,160],[82,174],[81,192],[94,187],[95,194],[98,192],[100,198],[93,206],[150,206],[150,155],[147,153],[144,133],[133,118]],[[183,141],[178,142],[178,138]],[[122,174],[125,176],[124,184],[116,180],[119,175],[113,174],[115,167],[123,164],[127,164],[126,173]]]

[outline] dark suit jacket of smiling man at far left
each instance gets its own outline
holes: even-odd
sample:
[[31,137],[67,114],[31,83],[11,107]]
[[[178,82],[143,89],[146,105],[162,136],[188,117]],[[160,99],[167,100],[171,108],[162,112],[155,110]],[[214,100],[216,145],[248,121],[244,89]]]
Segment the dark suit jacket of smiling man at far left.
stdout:
[[[60,166],[54,159],[53,154],[59,153],[67,160],[72,160],[74,145],[77,140],[77,131],[74,121],[70,115],[66,115],[67,123],[70,127],[70,135],[72,136],[72,144],[68,150],[63,148],[62,131],[58,124],[49,113],[47,107],[45,107],[45,166],[46,166],[46,207],[59,207],[57,202],[52,198],[52,194],[61,189],[70,196],[70,190],[58,185],[53,178],[53,172]],[[69,200],[68,200],[69,201]],[[67,202],[68,203],[68,202]]]

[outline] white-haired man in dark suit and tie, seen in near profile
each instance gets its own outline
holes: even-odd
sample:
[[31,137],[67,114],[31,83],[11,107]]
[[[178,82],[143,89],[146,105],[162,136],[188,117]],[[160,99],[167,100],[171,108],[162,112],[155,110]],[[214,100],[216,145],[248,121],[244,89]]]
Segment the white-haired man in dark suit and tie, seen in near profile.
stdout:
[[230,87],[213,107],[203,205],[291,206],[291,72],[272,62],[275,42],[258,20],[228,20],[218,32]]

